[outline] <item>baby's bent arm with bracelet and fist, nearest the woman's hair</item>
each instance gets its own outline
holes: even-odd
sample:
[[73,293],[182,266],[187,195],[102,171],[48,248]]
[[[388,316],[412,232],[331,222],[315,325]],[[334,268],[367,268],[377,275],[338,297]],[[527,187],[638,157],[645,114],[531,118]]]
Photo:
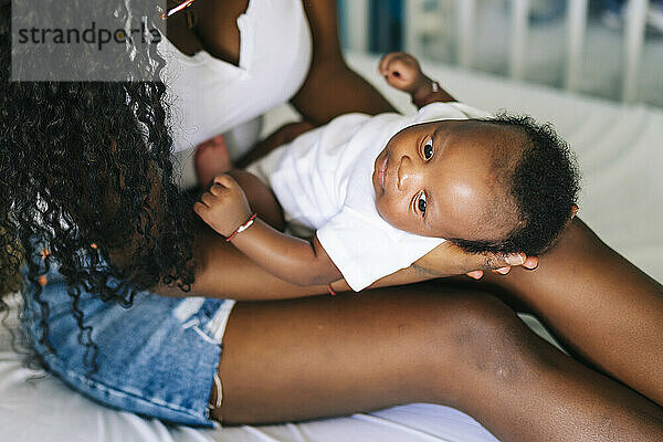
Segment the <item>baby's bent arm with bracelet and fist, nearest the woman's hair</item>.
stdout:
[[[209,192],[193,206],[212,229],[229,238],[251,217],[244,191],[228,175],[214,178]],[[343,278],[317,236],[313,241],[286,235],[255,219],[232,243],[257,265],[297,285],[328,284]]]

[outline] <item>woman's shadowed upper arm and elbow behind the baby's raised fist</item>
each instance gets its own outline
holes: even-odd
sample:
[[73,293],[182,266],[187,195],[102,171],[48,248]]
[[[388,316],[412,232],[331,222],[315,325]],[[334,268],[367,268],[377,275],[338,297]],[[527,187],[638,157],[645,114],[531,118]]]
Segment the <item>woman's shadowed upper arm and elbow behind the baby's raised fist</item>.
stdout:
[[304,85],[291,101],[295,108],[316,125],[350,112],[371,115],[394,112],[375,87],[345,63],[338,41],[336,2],[307,0],[304,9],[313,38],[313,60]]

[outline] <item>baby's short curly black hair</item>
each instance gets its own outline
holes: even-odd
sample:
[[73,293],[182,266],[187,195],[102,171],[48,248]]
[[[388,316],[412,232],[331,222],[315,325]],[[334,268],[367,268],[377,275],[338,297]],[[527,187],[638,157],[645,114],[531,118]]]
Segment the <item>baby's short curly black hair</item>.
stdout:
[[549,123],[506,113],[481,120],[514,130],[515,136],[506,136],[497,146],[502,151],[522,152],[512,167],[497,171],[511,200],[497,202],[504,209],[497,212],[515,210],[518,221],[501,241],[449,240],[469,252],[545,253],[568,225],[577,203],[580,175],[573,155]]

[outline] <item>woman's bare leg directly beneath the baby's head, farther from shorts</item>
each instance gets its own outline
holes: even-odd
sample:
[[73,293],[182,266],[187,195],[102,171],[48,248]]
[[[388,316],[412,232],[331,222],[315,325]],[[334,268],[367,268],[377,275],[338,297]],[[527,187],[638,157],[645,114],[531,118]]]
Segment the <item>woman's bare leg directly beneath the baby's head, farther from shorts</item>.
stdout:
[[537,270],[486,280],[508,290],[571,351],[663,404],[663,286],[582,221]]

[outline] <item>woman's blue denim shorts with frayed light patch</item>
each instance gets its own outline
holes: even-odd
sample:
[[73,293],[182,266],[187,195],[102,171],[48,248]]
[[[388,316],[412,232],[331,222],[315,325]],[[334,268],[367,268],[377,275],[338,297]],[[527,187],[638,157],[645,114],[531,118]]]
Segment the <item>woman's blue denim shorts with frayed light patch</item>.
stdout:
[[[49,306],[48,343],[54,351],[40,343],[41,307],[30,284],[24,309],[25,329],[49,370],[113,408],[173,423],[213,424],[208,402],[233,301],[139,292],[125,308],[82,292],[78,309],[92,332],[81,335],[64,277],[53,267],[41,277],[41,299]],[[88,340],[96,350],[81,343]]]

